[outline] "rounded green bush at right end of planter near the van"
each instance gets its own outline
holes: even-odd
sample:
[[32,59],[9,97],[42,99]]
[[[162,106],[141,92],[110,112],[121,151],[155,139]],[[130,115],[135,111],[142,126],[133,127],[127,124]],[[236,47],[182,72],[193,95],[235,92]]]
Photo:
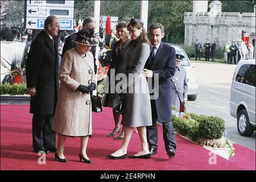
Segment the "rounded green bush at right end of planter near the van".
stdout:
[[225,131],[225,121],[219,117],[204,117],[199,123],[199,137],[219,139]]

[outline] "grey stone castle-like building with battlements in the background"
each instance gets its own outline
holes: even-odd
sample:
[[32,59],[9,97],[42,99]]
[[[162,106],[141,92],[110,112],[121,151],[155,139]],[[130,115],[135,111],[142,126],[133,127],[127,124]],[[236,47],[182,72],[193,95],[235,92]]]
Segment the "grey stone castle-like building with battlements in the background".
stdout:
[[255,38],[255,6],[254,13],[221,12],[222,3],[213,1],[193,1],[193,12],[185,12],[185,46],[191,46],[199,39],[216,40],[217,46],[224,48],[228,41],[237,41],[246,31],[252,44]]

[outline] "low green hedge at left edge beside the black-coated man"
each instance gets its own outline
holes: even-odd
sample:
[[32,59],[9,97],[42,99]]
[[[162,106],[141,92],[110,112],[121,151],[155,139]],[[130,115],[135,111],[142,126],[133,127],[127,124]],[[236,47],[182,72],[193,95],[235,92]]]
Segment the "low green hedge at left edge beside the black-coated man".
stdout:
[[9,83],[1,84],[1,95],[24,95],[28,94],[28,88],[27,85],[23,82],[22,84],[16,84],[10,85]]

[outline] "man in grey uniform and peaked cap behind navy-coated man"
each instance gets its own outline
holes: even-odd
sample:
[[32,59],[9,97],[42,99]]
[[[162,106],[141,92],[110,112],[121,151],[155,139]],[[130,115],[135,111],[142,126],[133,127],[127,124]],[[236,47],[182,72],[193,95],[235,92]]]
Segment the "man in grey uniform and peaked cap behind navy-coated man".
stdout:
[[180,67],[181,61],[184,56],[176,54],[176,71],[172,78],[172,105],[175,105],[176,109],[180,110],[180,102],[186,103],[188,100],[188,84],[187,73],[185,68]]

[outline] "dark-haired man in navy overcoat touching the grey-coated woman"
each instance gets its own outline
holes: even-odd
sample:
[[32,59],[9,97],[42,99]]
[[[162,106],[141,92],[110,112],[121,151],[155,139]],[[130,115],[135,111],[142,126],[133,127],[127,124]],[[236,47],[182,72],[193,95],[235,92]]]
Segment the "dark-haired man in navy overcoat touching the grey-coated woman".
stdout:
[[[150,27],[150,41],[152,44],[150,57],[145,65],[143,75],[146,77],[159,77],[159,96],[151,98],[152,126],[147,126],[147,142],[150,154],[156,154],[158,150],[158,122],[163,124],[164,144],[169,158],[174,158],[176,150],[176,138],[172,125],[171,112],[171,77],[175,73],[175,54],[173,47],[162,42],[164,27],[160,23],[154,23]],[[155,80],[155,79],[154,79]],[[155,92],[156,93],[156,92]]]

